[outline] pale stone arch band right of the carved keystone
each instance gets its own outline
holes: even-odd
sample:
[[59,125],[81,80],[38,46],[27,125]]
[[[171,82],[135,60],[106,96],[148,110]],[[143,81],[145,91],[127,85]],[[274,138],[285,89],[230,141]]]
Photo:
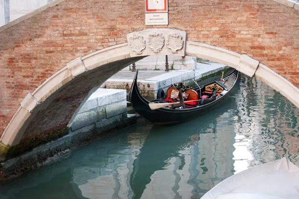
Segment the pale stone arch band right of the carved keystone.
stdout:
[[270,67],[247,55],[211,46],[205,43],[187,41],[186,55],[206,58],[236,68],[240,72],[265,82],[299,107],[299,89]]

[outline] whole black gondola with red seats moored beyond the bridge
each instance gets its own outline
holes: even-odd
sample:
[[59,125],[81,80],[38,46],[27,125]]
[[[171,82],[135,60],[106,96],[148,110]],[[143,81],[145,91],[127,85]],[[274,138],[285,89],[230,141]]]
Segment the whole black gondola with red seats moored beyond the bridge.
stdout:
[[[137,71],[131,89],[129,91],[129,100],[131,102],[131,106],[135,109],[135,111],[149,122],[165,126],[176,125],[197,118],[220,106],[231,93],[231,89],[237,81],[238,74],[239,72],[237,70],[234,70],[225,77],[199,86],[194,90],[190,88],[184,88],[184,86],[182,90],[181,85],[180,88],[175,85],[176,89],[179,89],[180,91],[189,93],[193,92],[198,94],[197,99],[194,97],[191,100],[187,99],[187,104],[189,102],[189,105],[185,107],[184,104],[186,103],[186,101],[182,103],[183,100],[181,92],[179,94],[180,102],[176,103],[167,104],[165,103],[164,98],[149,101],[145,97],[143,97],[138,87]],[[175,86],[172,85],[172,87],[170,88],[175,89]],[[166,94],[168,95],[168,93],[169,92],[167,90]],[[178,103],[179,105],[177,105]],[[151,104],[151,106],[165,107],[151,110],[149,104]],[[168,107],[166,105],[172,106]],[[175,108],[177,106],[180,107]]]

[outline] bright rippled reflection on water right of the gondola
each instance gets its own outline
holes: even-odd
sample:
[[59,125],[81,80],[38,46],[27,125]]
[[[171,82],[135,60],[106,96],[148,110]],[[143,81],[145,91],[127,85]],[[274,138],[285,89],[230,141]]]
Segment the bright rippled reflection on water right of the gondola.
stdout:
[[[242,142],[242,146],[234,145],[235,152],[243,154],[242,160],[235,161],[235,164],[239,164],[235,165],[239,168],[238,172],[283,156],[299,164],[295,158],[299,153],[298,145],[295,144],[298,142],[299,109],[256,78],[242,77],[240,89],[236,101],[238,120],[241,122],[236,123],[235,129],[236,144]],[[244,160],[243,152],[249,153],[251,157]]]

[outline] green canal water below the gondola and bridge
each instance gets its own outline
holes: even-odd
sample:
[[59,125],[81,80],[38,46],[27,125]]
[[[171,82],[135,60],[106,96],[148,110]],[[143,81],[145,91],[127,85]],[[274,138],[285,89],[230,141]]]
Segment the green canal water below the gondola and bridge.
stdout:
[[0,184],[0,199],[198,199],[219,182],[288,157],[299,166],[299,109],[241,76],[218,109],[184,124],[141,122]]

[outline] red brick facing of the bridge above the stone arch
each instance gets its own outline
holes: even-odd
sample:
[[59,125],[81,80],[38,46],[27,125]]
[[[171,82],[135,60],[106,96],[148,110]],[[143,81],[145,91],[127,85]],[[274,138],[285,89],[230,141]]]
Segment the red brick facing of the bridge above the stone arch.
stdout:
[[299,10],[272,0],[169,0],[146,26],[144,0],[65,0],[0,32],[0,134],[20,102],[66,63],[146,28],[247,54],[299,87]]

